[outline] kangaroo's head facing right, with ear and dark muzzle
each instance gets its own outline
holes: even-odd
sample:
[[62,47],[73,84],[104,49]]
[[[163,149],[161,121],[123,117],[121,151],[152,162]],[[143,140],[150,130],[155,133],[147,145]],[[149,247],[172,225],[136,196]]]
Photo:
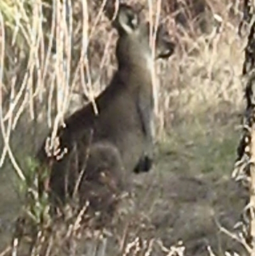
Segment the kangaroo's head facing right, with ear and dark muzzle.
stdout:
[[155,59],[168,58],[173,54],[175,43],[170,40],[163,24],[160,24],[156,31],[155,55],[152,59],[150,24],[140,22],[138,13],[126,4],[120,5],[113,26],[119,33],[116,47],[119,68],[147,66]]

